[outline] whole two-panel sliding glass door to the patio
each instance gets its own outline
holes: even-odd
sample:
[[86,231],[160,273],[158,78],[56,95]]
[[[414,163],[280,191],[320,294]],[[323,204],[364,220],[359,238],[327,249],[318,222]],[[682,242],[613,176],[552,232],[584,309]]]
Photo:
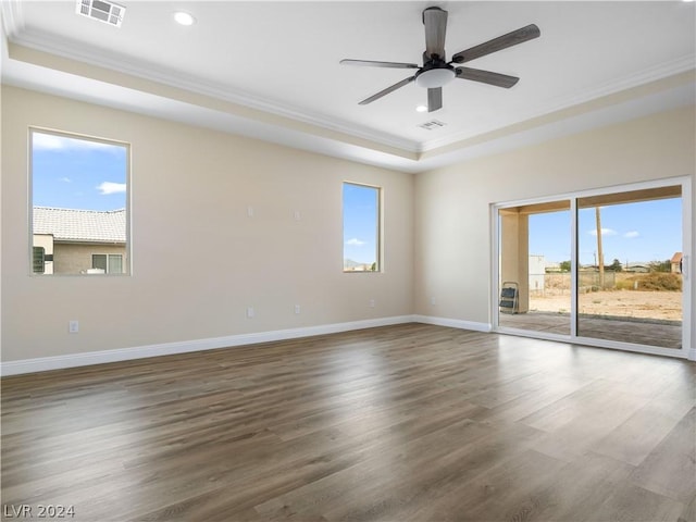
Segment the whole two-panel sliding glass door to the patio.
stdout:
[[683,273],[688,183],[495,207],[494,327],[597,346],[681,349],[691,316]]

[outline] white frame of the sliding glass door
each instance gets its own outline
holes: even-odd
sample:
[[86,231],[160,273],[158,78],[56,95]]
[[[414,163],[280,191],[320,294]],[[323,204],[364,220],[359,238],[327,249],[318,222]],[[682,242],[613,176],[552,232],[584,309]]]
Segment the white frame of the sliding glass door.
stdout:
[[[625,192],[631,190],[644,190],[670,186],[681,186],[682,189],[682,253],[684,256],[684,277],[682,285],[682,348],[663,348],[658,346],[639,345],[635,343],[624,343],[609,339],[599,339],[595,337],[583,337],[577,335],[577,199],[591,196],[604,196],[611,194]],[[501,326],[499,321],[498,299],[500,296],[500,220],[499,211],[504,209],[537,203],[549,203],[554,201],[569,200],[571,212],[571,312],[570,312],[570,335],[554,334],[548,332],[537,332],[531,330],[521,330],[510,326]],[[693,221],[693,192],[691,176],[671,177],[663,179],[655,179],[650,182],[631,183],[624,185],[614,185],[601,188],[580,190],[575,192],[552,195],[547,197],[523,199],[515,201],[506,201],[490,204],[490,274],[492,274],[492,298],[490,298],[490,324],[494,332],[502,334],[519,335],[523,337],[533,337],[538,339],[561,340],[566,343],[577,343],[599,348],[611,348],[624,351],[636,351],[641,353],[651,353],[658,356],[669,356],[678,358],[689,358],[696,356],[693,353],[692,331],[694,321],[694,306],[692,296],[692,279],[695,276],[694,270],[694,246],[692,245],[692,235],[694,228]]]

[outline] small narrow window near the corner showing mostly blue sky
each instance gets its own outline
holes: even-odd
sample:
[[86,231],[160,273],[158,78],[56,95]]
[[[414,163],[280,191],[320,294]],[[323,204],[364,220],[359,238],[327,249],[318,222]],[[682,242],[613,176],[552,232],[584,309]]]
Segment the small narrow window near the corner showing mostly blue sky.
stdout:
[[378,272],[381,189],[344,183],[344,272]]

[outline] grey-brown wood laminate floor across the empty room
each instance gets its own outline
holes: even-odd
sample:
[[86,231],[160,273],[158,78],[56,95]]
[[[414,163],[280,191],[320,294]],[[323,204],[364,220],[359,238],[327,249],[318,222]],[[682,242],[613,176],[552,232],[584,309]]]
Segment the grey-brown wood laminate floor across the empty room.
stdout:
[[3,517],[693,522],[695,373],[406,324],[7,377]]

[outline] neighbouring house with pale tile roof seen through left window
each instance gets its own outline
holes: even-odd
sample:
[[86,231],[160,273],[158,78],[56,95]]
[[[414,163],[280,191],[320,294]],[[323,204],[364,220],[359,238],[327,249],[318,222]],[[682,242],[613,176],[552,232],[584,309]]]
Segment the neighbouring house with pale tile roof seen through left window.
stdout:
[[122,274],[126,211],[34,207],[35,274]]

